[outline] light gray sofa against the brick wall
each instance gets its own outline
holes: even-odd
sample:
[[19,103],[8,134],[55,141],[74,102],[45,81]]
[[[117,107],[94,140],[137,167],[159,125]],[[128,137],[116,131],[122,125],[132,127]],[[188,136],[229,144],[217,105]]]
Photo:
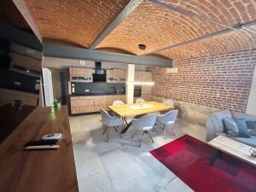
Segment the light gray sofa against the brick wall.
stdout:
[[[236,113],[231,112],[230,110],[224,110],[217,113],[212,113],[207,119],[207,142],[211,141],[214,137],[218,137],[219,135],[223,135],[228,137],[225,133],[224,118],[245,118],[246,120],[256,120],[256,116],[246,113]],[[253,132],[253,131],[252,131]],[[254,131],[255,134],[255,131]],[[254,135],[253,134],[253,135]],[[236,141],[241,143],[246,143],[247,145],[253,146],[256,148],[256,136],[250,134],[251,137],[230,137]]]

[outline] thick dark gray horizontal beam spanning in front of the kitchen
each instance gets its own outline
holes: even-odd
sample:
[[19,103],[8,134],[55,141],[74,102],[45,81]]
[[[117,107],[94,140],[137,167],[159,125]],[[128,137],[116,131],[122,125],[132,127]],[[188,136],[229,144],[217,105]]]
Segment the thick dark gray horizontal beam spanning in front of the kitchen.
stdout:
[[43,55],[78,60],[109,61],[135,65],[172,67],[172,60],[170,59],[160,59],[141,55],[110,53],[101,50],[74,48],[54,44],[44,44]]

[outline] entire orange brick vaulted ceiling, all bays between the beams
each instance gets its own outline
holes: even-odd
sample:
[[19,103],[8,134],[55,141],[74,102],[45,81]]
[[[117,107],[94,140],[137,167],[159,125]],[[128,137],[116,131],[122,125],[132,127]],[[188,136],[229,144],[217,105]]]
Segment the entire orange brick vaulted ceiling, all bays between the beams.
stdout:
[[[44,39],[61,40],[84,48],[90,47],[129,2],[128,0],[25,1]],[[231,27],[256,20],[255,0],[160,0],[160,2],[178,9],[186,9]],[[248,28],[256,32],[256,25]],[[225,29],[227,27],[183,15],[144,0],[96,46],[96,49],[122,50],[135,55],[154,52],[152,55],[172,59],[256,49],[256,33],[242,29],[174,46]],[[147,49],[138,49],[138,44],[146,44]]]

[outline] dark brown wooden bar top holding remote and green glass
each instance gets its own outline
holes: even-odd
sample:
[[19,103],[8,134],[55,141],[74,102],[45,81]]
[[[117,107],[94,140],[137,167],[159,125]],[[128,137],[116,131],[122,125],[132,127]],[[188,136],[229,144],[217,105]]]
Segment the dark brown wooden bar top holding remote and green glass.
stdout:
[[[1,192],[78,192],[67,106],[36,108],[0,145]],[[57,150],[24,151],[29,141],[61,132]]]

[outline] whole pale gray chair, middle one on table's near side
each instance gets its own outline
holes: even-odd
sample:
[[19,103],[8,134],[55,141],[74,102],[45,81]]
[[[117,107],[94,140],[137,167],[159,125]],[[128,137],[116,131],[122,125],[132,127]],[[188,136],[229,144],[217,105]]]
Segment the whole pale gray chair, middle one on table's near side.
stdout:
[[151,113],[151,114],[144,115],[140,119],[132,119],[131,126],[133,126],[136,129],[136,131],[131,136],[131,138],[135,137],[135,135],[137,134],[137,131],[141,132],[139,147],[142,146],[143,135],[145,133],[148,134],[148,136],[151,139],[151,142],[154,143],[154,140],[148,131],[153,129],[156,117],[157,117],[157,114]]

